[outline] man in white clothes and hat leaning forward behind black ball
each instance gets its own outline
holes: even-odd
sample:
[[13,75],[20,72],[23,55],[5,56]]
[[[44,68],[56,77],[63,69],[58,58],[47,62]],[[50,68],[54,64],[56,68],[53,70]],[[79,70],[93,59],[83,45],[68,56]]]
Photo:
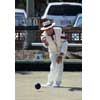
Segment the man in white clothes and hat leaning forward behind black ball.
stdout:
[[67,52],[68,42],[66,35],[62,33],[62,28],[54,27],[55,23],[50,20],[43,22],[44,31],[41,34],[41,41],[48,48],[51,60],[50,73],[46,86],[59,87],[62,81],[63,60]]

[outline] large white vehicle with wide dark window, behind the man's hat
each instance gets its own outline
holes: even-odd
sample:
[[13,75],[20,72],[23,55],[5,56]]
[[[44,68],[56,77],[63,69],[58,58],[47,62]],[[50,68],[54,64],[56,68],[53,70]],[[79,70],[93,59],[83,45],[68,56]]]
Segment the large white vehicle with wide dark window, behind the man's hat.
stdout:
[[82,13],[81,3],[55,2],[49,3],[41,19],[51,19],[55,26],[73,25],[77,14]]

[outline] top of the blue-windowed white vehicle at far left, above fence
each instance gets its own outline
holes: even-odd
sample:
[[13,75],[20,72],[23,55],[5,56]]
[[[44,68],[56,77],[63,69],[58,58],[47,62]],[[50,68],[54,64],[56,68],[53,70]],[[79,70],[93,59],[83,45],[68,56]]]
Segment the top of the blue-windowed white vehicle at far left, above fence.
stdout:
[[27,14],[24,9],[15,9],[15,26],[26,26]]

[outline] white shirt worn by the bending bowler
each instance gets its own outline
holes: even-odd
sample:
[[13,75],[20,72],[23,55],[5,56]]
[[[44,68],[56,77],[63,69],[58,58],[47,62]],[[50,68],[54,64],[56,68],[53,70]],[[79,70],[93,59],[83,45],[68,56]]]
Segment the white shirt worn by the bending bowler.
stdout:
[[[41,40],[45,37],[48,42],[48,51],[55,53],[67,52],[68,42],[66,40],[65,34],[62,33],[62,28],[53,27],[55,34],[53,35],[54,40],[51,36],[48,36],[46,31],[41,34]],[[45,44],[44,44],[45,45]]]

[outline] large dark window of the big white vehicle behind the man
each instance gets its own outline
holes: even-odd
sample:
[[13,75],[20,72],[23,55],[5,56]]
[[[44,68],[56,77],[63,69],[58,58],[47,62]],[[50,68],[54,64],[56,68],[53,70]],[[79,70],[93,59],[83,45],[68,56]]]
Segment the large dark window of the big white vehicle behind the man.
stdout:
[[82,8],[77,5],[53,5],[48,11],[48,15],[57,16],[76,16],[78,13],[82,13]]

